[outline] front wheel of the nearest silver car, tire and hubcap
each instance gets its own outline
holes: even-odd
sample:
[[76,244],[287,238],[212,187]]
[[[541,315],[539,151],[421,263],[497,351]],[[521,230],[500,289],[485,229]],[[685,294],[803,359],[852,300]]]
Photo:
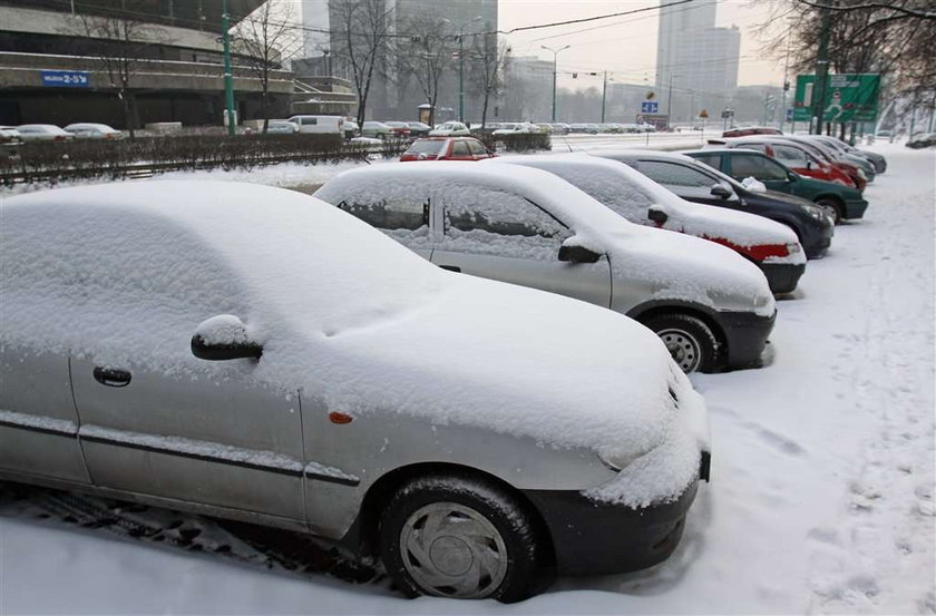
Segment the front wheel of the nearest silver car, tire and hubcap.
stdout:
[[516,497],[468,476],[410,481],[380,520],[383,565],[411,597],[524,599],[533,594],[542,545]]

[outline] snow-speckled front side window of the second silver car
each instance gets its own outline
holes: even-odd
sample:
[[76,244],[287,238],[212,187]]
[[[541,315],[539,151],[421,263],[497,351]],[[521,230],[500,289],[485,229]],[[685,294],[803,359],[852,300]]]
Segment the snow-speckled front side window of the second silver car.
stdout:
[[486,186],[440,188],[446,250],[554,261],[572,235],[528,199]]

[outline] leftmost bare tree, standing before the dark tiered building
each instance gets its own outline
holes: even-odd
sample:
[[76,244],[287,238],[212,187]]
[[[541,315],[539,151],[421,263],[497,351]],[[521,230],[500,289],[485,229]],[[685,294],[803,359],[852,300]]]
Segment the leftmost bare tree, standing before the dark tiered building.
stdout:
[[170,42],[165,30],[140,21],[134,17],[136,14],[140,13],[134,11],[133,7],[107,16],[81,14],[76,26],[67,32],[91,41],[86,52],[95,57],[99,70],[107,76],[109,87],[117,94],[130,138],[136,136],[139,124],[136,94],[131,86],[139,71],[140,60],[150,56],[149,49],[153,46]]

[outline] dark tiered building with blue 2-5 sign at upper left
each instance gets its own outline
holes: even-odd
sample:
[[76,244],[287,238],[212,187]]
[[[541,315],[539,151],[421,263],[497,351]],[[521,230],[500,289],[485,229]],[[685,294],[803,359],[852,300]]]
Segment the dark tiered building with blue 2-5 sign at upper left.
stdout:
[[[263,0],[228,0],[236,23]],[[224,110],[222,0],[0,0],[0,124],[103,121],[126,128],[117,90],[100,59],[133,58],[129,95],[138,126],[221,125]],[[89,21],[133,22],[129,40]],[[234,57],[240,119],[257,117],[261,85]],[[289,113],[292,75],[273,70],[274,113]]]

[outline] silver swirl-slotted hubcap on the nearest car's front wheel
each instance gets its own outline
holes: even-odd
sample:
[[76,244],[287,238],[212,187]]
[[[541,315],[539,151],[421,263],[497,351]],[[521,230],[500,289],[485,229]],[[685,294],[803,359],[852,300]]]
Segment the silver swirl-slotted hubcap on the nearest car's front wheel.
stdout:
[[400,530],[407,573],[429,595],[480,599],[507,574],[500,532],[478,511],[433,502],[415,511]]

